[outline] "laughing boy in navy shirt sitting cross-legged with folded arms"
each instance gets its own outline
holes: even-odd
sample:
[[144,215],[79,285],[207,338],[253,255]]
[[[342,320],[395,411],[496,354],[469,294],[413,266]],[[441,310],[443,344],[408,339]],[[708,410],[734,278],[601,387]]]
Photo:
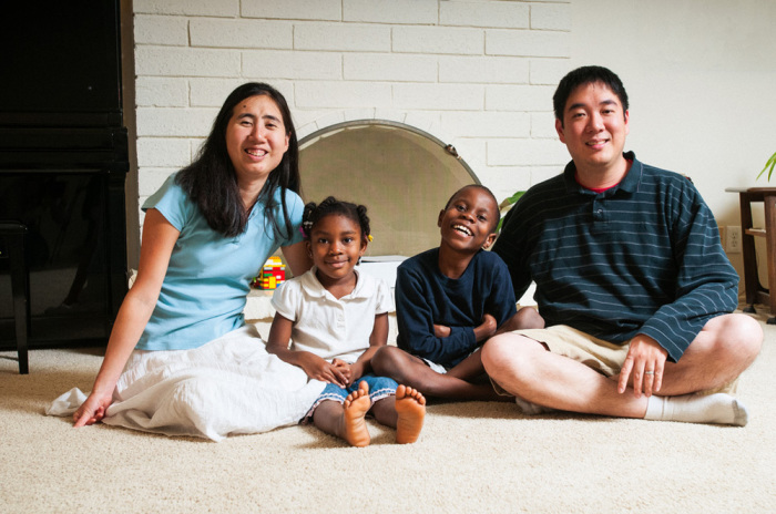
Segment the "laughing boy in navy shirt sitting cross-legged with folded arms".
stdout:
[[506,399],[488,382],[480,346],[504,327],[543,328],[533,308],[515,312],[507,266],[484,251],[496,240],[500,213],[484,186],[456,192],[439,213],[442,236],[432,248],[404,261],[396,277],[397,347],[372,357],[375,373],[426,395],[458,400]]

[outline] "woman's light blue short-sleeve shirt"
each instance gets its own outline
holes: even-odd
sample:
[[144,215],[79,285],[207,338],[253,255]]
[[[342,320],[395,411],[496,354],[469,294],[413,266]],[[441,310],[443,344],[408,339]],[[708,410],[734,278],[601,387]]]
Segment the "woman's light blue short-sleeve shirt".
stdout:
[[[245,325],[243,309],[251,279],[278,247],[303,239],[304,203],[296,193],[286,192],[294,226],[290,238],[276,234],[267,223],[263,202],[254,206],[243,234],[224,237],[207,225],[174,177],[143,204],[143,210],[157,209],[181,234],[156,307],[135,347],[139,350],[197,348]],[[279,197],[278,191],[276,201]],[[279,202],[274,214],[285,232]]]

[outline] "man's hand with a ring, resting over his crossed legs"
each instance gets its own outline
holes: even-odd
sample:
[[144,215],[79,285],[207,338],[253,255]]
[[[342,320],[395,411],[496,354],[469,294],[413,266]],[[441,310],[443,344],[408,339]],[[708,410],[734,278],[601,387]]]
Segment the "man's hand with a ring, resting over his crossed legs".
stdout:
[[620,370],[617,390],[624,393],[627,381],[633,373],[633,394],[641,398],[642,391],[647,397],[658,392],[663,384],[663,370],[668,352],[657,341],[643,333],[631,339],[625,362]]

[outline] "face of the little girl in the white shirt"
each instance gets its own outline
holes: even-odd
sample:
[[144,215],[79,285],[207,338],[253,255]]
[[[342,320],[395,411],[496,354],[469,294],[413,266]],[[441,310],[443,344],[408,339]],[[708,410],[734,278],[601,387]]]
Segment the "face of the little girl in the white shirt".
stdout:
[[340,214],[318,219],[310,230],[307,248],[318,268],[318,280],[325,288],[345,284],[355,277],[353,268],[367,249],[361,227]]

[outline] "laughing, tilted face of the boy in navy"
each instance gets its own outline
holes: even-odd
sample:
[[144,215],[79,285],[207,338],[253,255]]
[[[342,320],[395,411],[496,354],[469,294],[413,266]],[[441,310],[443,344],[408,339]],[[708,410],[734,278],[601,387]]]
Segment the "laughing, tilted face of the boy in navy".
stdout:
[[479,187],[466,187],[439,213],[437,226],[442,241],[456,249],[474,253],[496,239],[498,205]]

